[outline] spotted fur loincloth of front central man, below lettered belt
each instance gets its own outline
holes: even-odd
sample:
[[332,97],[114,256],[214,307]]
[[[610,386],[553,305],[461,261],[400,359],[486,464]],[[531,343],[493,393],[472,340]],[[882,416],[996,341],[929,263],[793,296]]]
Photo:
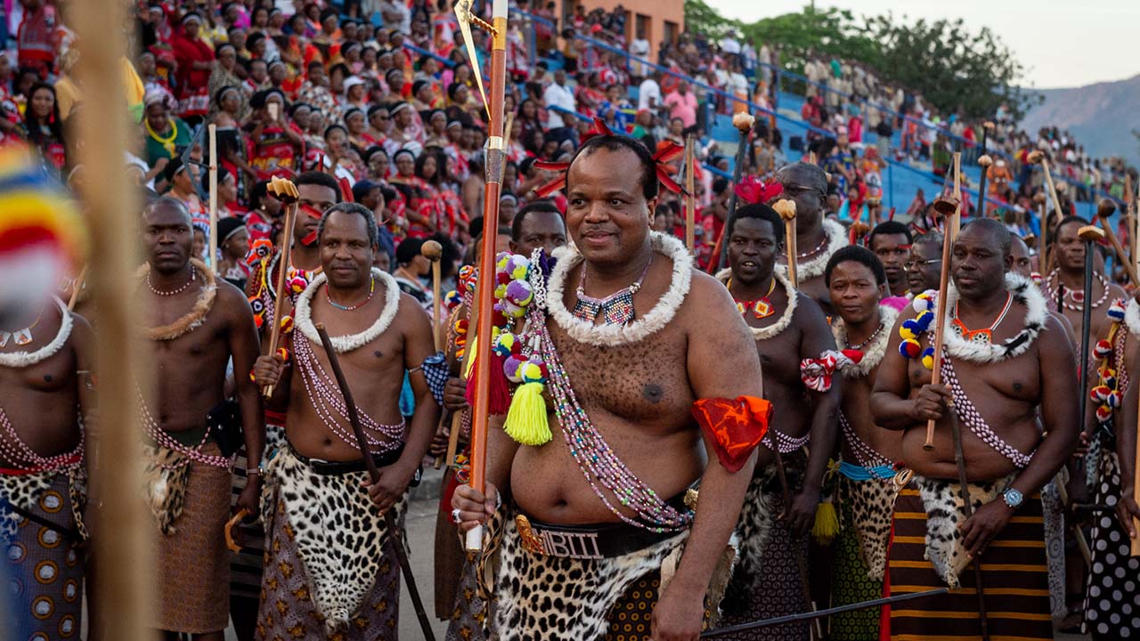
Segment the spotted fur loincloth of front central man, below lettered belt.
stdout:
[[618,558],[567,559],[527,552],[508,521],[496,582],[498,641],[602,639],[618,599],[635,581],[660,569],[687,536],[681,533]]

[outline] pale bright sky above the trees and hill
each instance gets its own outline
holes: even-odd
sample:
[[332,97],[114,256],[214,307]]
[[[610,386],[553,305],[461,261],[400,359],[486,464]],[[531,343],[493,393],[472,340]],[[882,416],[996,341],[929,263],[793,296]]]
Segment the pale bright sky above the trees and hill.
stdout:
[[[752,22],[801,9],[808,0],[707,0],[725,17]],[[1138,0],[817,0],[855,15],[962,18],[988,26],[1027,67],[1026,86],[1083,87],[1140,74]]]

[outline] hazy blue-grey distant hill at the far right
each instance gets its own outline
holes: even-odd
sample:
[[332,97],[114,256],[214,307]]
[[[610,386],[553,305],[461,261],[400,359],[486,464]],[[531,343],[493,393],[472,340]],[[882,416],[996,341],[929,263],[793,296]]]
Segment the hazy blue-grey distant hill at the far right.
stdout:
[[1140,143],[1132,136],[1140,129],[1140,75],[1037,94],[1045,102],[1025,117],[1026,131],[1045,125],[1068,129],[1091,157],[1121,155],[1140,164]]

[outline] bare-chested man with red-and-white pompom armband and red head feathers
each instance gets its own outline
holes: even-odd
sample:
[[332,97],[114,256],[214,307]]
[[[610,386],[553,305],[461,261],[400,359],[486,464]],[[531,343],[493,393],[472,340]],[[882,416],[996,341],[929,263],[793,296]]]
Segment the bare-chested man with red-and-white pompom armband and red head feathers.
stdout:
[[[839,376],[805,380],[801,364],[836,349],[828,319],[808,295],[776,273],[783,253],[780,214],[764,204],[739,208],[728,221],[728,268],[717,274],[752,332],[772,401],[768,436],[759,448],[738,524],[741,554],[724,601],[724,625],[803,612],[807,533],[836,443]],[[777,461],[774,448],[779,447]],[[805,460],[804,448],[811,451]],[[781,474],[780,466],[784,470]],[[787,479],[788,487],[782,486]],[[790,500],[790,504],[785,502]],[[773,626],[733,639],[807,638],[807,624]]]

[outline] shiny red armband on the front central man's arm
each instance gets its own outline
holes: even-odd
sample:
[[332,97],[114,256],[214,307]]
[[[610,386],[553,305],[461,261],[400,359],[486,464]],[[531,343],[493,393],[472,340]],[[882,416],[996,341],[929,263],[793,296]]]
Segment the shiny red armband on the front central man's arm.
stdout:
[[702,398],[693,403],[692,413],[712,441],[720,464],[735,472],[767,433],[772,404],[754,396]]

